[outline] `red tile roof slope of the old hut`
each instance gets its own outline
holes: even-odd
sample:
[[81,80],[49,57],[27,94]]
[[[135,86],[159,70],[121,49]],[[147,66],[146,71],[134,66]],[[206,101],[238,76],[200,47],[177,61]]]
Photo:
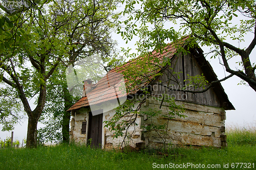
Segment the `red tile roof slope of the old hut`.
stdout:
[[[188,38],[185,37],[182,39],[182,43],[180,45],[184,44],[184,41]],[[143,64],[147,63],[156,63],[156,59],[158,59],[160,62],[163,60],[163,56],[172,58],[177,52],[177,45],[174,43],[168,44],[165,47],[165,50],[162,54],[156,51],[152,52],[151,56],[146,57],[138,57],[136,59],[132,59],[129,62],[118,66],[108,72],[106,76],[104,76],[96,85],[96,88],[94,88],[92,91],[90,91],[87,96],[82,97],[78,102],[76,102],[70,109],[76,110],[81,107],[88,107],[90,105],[96,105],[99,103],[103,103],[105,101],[114,100],[117,98],[122,98],[129,94],[135,94],[139,87],[145,87],[148,85],[152,80],[155,78],[154,75],[161,71],[161,68],[154,66],[151,67],[151,70],[146,70],[146,72],[143,72],[142,74],[146,75],[147,78],[143,78],[143,76],[139,76],[134,80],[134,78],[129,78],[129,76],[126,76],[124,74],[125,71],[129,71],[131,69],[131,72],[135,72],[136,74],[136,67],[138,67],[137,63],[140,61],[143,61]],[[147,60],[148,59],[148,60]],[[140,71],[140,70],[137,70]],[[123,78],[125,77],[125,79]],[[124,91],[124,83],[127,87],[127,89]],[[139,83],[138,83],[139,82]],[[135,87],[132,87],[137,84]],[[132,87],[132,89],[130,88]],[[89,104],[90,101],[90,104]]]

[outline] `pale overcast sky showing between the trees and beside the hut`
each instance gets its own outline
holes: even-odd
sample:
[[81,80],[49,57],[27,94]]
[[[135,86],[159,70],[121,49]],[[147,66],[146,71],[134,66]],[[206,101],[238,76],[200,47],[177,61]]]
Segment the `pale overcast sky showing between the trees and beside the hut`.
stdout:
[[[239,18],[238,18],[239,19]],[[173,26],[172,26],[173,27]],[[136,38],[134,38],[131,42],[125,43],[120,35],[113,34],[114,39],[117,40],[118,42],[118,48],[120,47],[132,47],[133,52],[135,51],[135,45],[134,43],[136,42]],[[245,47],[248,46],[249,43],[251,42],[253,36],[250,35],[245,35],[245,42],[243,43],[235,43],[233,45],[235,46],[240,46],[240,47]],[[203,51],[205,53],[209,52],[208,47],[202,47]],[[251,53],[251,62],[256,63],[256,50],[254,49]],[[212,68],[214,69],[216,75],[218,76],[218,79],[222,79],[229,74],[225,71],[223,66],[219,63],[219,59],[210,59],[210,56],[207,56],[206,59],[210,62]],[[237,61],[240,61],[241,58],[239,57],[234,57],[232,58],[229,62],[233,63],[230,65],[232,69],[241,69],[239,68],[238,64],[236,64]],[[226,126],[241,126],[241,127],[246,127],[246,126],[254,126],[256,127],[256,92],[249,86],[245,85],[238,85],[240,83],[241,79],[233,76],[229,78],[228,80],[221,82],[225,92],[228,95],[229,101],[233,104],[234,108],[236,110],[228,110],[226,111],[227,119],[226,119]],[[33,103],[33,102],[31,102]],[[33,109],[33,107],[32,107]],[[27,138],[27,124],[28,120],[25,119],[23,120],[24,123],[22,125],[17,125],[14,129],[14,139],[18,139],[22,141],[22,139]],[[42,127],[42,125],[38,124],[37,128]],[[2,129],[2,126],[0,125],[0,129]],[[0,132],[0,139],[4,140],[6,139],[7,136],[11,136],[11,132]]]

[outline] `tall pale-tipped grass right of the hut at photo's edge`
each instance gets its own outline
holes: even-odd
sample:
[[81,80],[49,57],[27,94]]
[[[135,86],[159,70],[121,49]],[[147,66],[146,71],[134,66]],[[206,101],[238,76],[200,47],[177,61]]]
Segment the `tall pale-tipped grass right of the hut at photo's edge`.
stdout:
[[229,144],[256,145],[256,122],[244,126],[227,126],[226,135]]

